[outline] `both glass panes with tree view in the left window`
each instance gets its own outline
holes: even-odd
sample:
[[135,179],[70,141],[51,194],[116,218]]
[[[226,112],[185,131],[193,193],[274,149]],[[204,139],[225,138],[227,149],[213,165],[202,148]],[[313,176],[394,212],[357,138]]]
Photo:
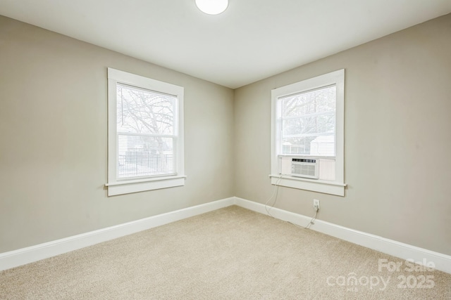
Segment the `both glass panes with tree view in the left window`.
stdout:
[[118,178],[176,173],[177,97],[117,84]]

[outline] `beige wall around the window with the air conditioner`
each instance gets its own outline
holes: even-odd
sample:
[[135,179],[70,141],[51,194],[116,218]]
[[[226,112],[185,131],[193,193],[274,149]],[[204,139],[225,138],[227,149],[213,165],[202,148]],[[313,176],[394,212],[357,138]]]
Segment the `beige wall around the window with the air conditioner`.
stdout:
[[451,15],[235,91],[235,195],[264,203],[271,89],[345,68],[345,197],[280,188],[276,207],[451,254]]

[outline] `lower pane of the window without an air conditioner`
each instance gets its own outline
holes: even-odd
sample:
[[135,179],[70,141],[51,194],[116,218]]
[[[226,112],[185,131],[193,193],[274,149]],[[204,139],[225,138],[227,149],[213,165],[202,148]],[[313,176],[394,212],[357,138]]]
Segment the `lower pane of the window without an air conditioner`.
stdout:
[[174,138],[118,134],[118,178],[175,174]]

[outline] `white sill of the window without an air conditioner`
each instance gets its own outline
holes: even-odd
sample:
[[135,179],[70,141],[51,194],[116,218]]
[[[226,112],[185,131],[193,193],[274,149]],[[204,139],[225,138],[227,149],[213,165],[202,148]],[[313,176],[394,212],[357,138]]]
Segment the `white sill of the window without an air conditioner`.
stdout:
[[106,183],[109,196],[143,192],[144,190],[159,190],[161,188],[173,188],[185,185],[186,176],[170,176],[159,178],[148,178],[136,181],[118,181]]

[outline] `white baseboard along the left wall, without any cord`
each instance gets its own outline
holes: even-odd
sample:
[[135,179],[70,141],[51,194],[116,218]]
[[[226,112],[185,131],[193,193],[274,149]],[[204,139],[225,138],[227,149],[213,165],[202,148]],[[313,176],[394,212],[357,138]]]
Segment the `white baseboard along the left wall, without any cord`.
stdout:
[[54,240],[44,244],[37,244],[32,247],[14,250],[11,252],[4,252],[0,254],[0,270],[14,268],[17,266],[32,263],[41,259],[47,259],[51,256],[63,254],[73,250],[81,249],[83,247],[92,246],[100,242],[106,242],[118,237],[137,233],[142,230],[147,230],[167,223],[179,221],[182,219],[197,216],[209,211],[228,207],[235,203],[235,198],[227,198],[206,204],[200,204],[194,207],[187,207],[177,211],[171,211],[166,214],[159,214],[149,218],[140,219],[128,223],[123,223],[108,228],[94,230],[89,233],[82,233],[72,237],[66,237],[61,240]]

